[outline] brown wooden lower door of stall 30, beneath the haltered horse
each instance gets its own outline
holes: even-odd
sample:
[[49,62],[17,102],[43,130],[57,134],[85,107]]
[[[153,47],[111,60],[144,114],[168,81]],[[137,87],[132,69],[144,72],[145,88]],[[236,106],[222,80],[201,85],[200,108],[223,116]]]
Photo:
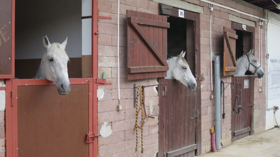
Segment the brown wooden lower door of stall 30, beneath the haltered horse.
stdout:
[[[244,88],[244,80],[249,80],[248,88]],[[232,76],[232,82],[242,83],[240,105],[246,110],[245,112],[241,110],[240,115],[232,112],[231,130],[232,140],[234,141],[252,134],[251,131],[253,122],[254,78],[253,76]],[[234,105],[234,99],[236,97],[236,90],[238,89],[236,89],[235,86],[234,89],[232,88],[231,90],[232,109]],[[235,102],[235,110],[237,110],[237,106],[238,103]]]

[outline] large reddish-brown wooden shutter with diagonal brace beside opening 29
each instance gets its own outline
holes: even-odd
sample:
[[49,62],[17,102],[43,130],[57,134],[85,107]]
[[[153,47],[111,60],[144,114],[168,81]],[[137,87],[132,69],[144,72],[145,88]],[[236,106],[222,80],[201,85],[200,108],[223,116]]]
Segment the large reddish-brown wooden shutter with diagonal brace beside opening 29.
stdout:
[[127,10],[127,79],[165,77],[167,17]]

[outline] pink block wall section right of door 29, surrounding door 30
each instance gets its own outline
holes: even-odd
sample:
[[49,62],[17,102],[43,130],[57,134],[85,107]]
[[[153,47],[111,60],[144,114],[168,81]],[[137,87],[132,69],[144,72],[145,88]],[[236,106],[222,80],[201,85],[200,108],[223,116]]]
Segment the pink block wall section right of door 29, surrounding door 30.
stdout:
[[[237,2],[233,2],[230,0],[214,0],[214,2],[230,6],[232,8],[237,8],[238,10],[244,11],[246,13],[251,13],[257,16],[262,17],[260,14],[261,10],[256,10],[249,6],[241,5]],[[204,14],[201,16],[201,73],[205,74],[205,77],[210,76],[210,38],[209,38],[209,9],[207,3],[200,2],[200,6],[204,6]],[[247,16],[243,16],[240,13],[233,12],[231,10],[227,10],[224,8],[214,6],[213,15],[213,23],[212,23],[212,51],[214,53],[222,53],[223,52],[223,26],[231,28],[231,22],[228,21],[228,14],[232,14],[235,16],[239,16],[241,18],[258,21],[258,19],[253,19]],[[263,43],[265,43],[265,29],[262,30],[263,33]],[[265,56],[265,44],[262,45],[262,55]],[[258,58],[258,28],[255,28],[255,56]],[[265,58],[263,60],[262,68],[265,69]],[[231,82],[231,77],[221,77],[224,82]],[[206,79],[205,79],[206,80]],[[262,79],[262,88],[265,89],[265,76]],[[210,94],[214,94],[211,91],[211,85],[209,81],[202,81],[202,88],[201,88],[201,114],[202,114],[202,153],[206,153],[211,151],[211,144],[210,144],[210,132],[209,128],[214,125],[214,99],[209,99]],[[264,131],[265,129],[265,91],[258,92],[259,86],[259,79],[255,79],[255,89],[254,89],[254,133],[258,134]],[[223,110],[223,108],[222,108]],[[231,144],[230,138],[230,129],[231,129],[231,90],[230,88],[226,88],[225,90],[225,113],[226,118],[222,119],[222,143],[224,146]],[[210,120],[209,120],[210,119]]]

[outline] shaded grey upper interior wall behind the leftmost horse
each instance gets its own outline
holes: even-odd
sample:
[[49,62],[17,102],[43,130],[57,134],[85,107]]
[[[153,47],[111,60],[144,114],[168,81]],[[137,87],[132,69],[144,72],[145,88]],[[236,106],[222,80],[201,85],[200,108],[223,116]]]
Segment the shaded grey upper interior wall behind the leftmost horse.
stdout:
[[[84,7],[89,7],[88,1],[83,0]],[[44,34],[47,34],[51,43],[62,43],[68,37],[68,56],[81,57],[81,16],[82,0],[17,1],[15,59],[42,58],[46,50],[42,42]]]

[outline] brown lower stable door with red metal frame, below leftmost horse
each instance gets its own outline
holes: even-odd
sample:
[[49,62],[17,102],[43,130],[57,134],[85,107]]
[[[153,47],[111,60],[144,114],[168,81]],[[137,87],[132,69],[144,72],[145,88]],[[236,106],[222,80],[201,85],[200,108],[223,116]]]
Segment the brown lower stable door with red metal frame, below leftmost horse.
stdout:
[[71,90],[59,95],[52,82],[13,80],[13,156],[88,157],[93,145],[92,79],[70,79]]

